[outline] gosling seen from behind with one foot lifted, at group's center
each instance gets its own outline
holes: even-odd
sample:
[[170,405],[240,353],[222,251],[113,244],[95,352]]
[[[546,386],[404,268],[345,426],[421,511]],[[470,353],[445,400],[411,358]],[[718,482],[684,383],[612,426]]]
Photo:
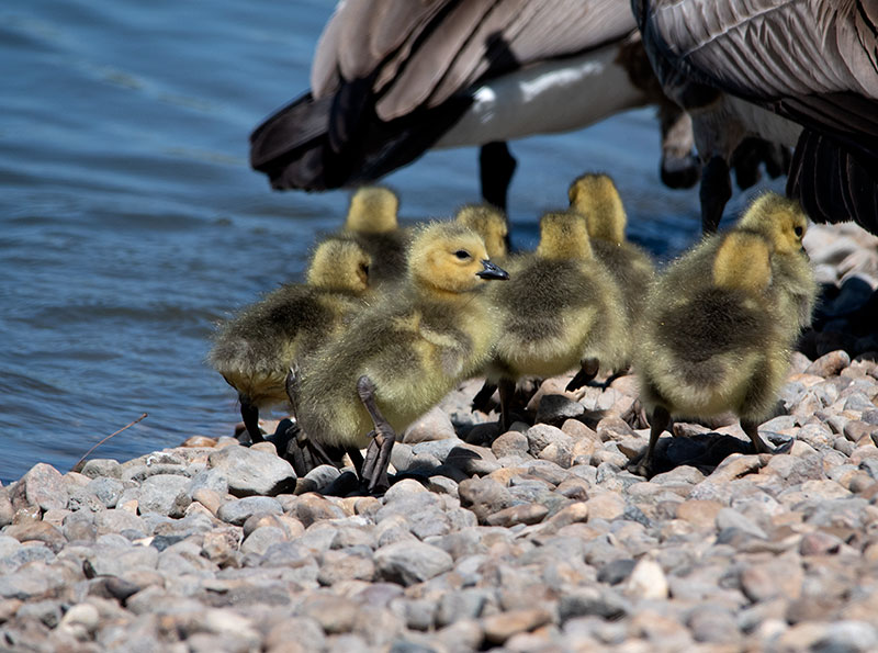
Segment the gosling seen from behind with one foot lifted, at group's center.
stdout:
[[543,215],[537,250],[510,257],[507,266],[510,281],[489,290],[500,331],[487,368],[488,380],[499,386],[504,429],[521,376],[581,368],[578,387],[597,374],[598,365],[617,365],[626,352],[621,295],[593,256],[581,215]]

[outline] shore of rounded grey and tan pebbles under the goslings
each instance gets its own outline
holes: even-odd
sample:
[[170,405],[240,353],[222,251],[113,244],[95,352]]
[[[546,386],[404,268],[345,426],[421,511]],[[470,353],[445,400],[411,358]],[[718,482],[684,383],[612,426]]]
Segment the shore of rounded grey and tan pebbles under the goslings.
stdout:
[[637,476],[628,375],[545,380],[536,424],[499,437],[470,381],[396,444],[381,498],[324,496],[349,473],[296,480],[232,437],[37,464],[0,488],[0,649],[878,649],[878,248],[812,232],[837,288],[759,429],[790,454],[748,453],[732,420],[677,424],[667,471]]

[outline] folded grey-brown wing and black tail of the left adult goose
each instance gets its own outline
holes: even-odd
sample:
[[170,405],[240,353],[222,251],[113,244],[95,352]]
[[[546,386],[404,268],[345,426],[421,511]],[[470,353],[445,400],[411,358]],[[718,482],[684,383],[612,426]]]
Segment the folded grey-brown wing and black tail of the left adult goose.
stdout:
[[374,180],[429,148],[465,89],[635,29],[628,0],[347,0],[317,45],[312,90],[250,135],[274,188]]

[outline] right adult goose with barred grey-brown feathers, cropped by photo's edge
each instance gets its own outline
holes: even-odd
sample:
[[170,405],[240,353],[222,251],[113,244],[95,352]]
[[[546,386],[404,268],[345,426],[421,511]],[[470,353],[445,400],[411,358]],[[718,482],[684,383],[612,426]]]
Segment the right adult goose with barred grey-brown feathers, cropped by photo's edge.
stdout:
[[665,92],[693,117],[706,230],[731,194],[731,151],[758,134],[796,147],[787,194],[812,219],[878,233],[878,1],[632,7]]

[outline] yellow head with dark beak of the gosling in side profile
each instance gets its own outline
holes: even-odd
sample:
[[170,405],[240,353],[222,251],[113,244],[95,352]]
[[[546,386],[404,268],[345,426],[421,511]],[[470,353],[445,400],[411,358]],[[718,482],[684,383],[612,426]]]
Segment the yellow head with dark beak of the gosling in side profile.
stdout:
[[408,254],[408,272],[421,286],[451,293],[475,290],[488,279],[509,278],[488,260],[479,234],[457,222],[420,229]]

